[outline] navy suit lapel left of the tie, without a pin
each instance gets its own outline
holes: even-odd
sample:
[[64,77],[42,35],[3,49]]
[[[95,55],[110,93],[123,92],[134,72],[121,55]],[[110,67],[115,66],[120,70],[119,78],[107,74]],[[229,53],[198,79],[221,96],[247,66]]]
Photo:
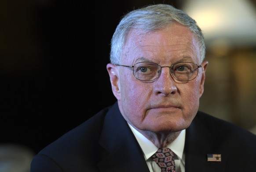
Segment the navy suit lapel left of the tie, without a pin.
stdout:
[[98,164],[102,172],[149,172],[143,152],[117,103],[106,115],[99,144],[109,152]]

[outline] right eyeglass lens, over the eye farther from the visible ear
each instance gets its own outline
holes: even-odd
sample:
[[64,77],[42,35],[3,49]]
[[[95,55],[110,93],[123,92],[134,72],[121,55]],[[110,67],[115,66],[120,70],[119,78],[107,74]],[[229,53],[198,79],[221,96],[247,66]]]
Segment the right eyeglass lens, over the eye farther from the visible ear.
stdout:
[[193,80],[198,73],[198,67],[195,63],[185,62],[172,65],[172,75],[179,81]]

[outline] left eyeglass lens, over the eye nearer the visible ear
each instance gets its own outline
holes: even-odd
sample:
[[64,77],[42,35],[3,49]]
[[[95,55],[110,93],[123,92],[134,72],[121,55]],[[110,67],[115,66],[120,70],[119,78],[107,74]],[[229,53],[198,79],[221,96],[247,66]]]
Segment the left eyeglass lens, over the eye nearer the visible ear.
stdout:
[[134,65],[133,74],[138,80],[153,81],[160,70],[161,67],[157,63],[140,62]]

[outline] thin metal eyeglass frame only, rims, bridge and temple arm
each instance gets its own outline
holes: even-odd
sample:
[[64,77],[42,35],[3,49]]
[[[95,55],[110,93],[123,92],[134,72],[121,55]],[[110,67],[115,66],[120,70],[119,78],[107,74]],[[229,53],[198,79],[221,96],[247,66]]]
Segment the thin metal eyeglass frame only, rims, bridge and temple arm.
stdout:
[[[154,62],[139,62],[139,63],[154,63]],[[179,62],[179,63],[193,63],[193,62]],[[154,79],[152,79],[152,80],[146,80],[146,81],[154,81],[154,80],[156,80],[156,79],[161,75],[161,72],[162,72],[162,68],[163,68],[163,67],[168,67],[168,68],[170,69],[170,74],[172,74],[172,77],[173,77],[174,79],[176,79],[177,81],[191,81],[191,80],[194,80],[194,79],[197,77],[197,75],[198,75],[198,69],[199,69],[200,67],[202,67],[201,64],[200,64],[200,65],[197,65],[196,63],[193,63],[193,64],[197,65],[197,74],[196,74],[196,76],[195,76],[194,78],[192,78],[192,79],[189,79],[189,80],[179,80],[179,79],[177,79],[177,78],[174,76],[174,74],[173,74],[173,66],[176,65],[176,64],[179,64],[179,63],[174,63],[174,64],[172,64],[171,66],[160,66],[158,63],[154,63],[154,64],[160,66],[160,72],[157,72],[158,75],[157,75],[156,78],[154,78]],[[135,65],[136,65],[136,64],[138,64],[138,63],[135,63]],[[133,65],[133,66],[127,66],[127,65],[121,65],[121,64],[115,64],[115,65],[116,65],[116,66],[122,66],[122,67],[130,67],[130,68],[133,68],[133,69],[132,69],[132,73],[133,73],[133,76],[135,77],[135,74],[134,74],[134,66],[135,66],[135,65]],[[136,78],[137,80],[139,80],[139,81],[145,81],[145,80],[141,80],[141,79],[139,79],[139,78],[137,78],[137,77],[135,77],[135,78]]]

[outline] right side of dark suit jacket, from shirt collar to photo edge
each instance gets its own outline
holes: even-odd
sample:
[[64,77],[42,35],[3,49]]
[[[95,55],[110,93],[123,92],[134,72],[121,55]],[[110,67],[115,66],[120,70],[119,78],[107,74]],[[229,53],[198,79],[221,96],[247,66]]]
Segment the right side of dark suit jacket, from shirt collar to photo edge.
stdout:
[[[256,168],[256,135],[204,112],[197,112],[186,130],[185,151],[187,168],[201,161],[199,171],[210,168],[251,172]],[[221,155],[221,162],[205,164],[207,154]]]

